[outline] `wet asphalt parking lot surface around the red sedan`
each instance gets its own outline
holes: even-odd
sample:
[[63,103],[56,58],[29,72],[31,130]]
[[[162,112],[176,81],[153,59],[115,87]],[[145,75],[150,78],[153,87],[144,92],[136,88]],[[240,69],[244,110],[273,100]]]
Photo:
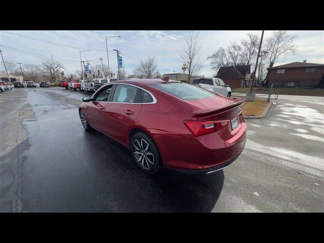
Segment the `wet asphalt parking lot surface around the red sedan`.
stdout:
[[[144,174],[131,152],[85,132],[87,93],[0,95],[1,212],[324,212],[324,98],[279,95],[246,120],[236,161],[209,175]],[[201,158],[203,159],[203,158]]]

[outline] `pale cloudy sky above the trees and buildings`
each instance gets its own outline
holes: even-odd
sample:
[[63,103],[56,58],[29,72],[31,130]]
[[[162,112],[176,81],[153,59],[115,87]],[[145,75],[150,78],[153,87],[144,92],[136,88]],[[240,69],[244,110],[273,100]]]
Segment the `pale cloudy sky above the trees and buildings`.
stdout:
[[[230,42],[239,42],[247,33],[261,31],[200,31],[201,55],[205,60],[201,74],[210,76],[210,61],[206,60],[215,50],[226,47]],[[280,57],[275,65],[290,62],[324,63],[324,31],[289,31],[296,34],[297,53]],[[184,45],[186,31],[0,31],[1,50],[5,61],[24,64],[41,64],[50,59],[60,61],[65,72],[71,73],[80,69],[80,50],[91,50],[82,53],[83,61],[100,64],[103,58],[107,64],[105,36],[120,35],[108,41],[110,68],[117,69],[116,52],[121,52],[127,74],[137,67],[141,58],[154,56],[160,73],[181,72],[182,63],[179,53]],[[264,38],[271,35],[265,31]],[[10,48],[14,49],[10,49]],[[24,51],[24,52],[21,52]],[[64,60],[65,59],[65,60]],[[3,63],[1,69],[3,70]],[[1,70],[1,71],[2,71]]]

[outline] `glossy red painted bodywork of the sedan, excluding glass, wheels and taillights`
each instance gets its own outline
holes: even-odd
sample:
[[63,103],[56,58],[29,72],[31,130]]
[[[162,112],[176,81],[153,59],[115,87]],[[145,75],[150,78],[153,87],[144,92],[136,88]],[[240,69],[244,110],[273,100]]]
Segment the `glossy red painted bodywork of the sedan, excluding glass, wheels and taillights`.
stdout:
[[[165,83],[160,79],[130,79],[113,83],[131,84],[154,95],[155,104],[83,102],[90,126],[130,148],[130,133],[134,129],[146,132],[156,143],[166,168],[203,170],[235,159],[246,143],[246,123],[241,115],[244,100],[216,96],[184,101],[151,84]],[[168,85],[168,84],[166,84]],[[84,109],[87,106],[87,109]],[[100,108],[100,106],[103,106]],[[126,114],[131,110],[133,114]],[[238,117],[238,126],[230,123],[221,131],[194,136],[184,120],[230,120]]]

